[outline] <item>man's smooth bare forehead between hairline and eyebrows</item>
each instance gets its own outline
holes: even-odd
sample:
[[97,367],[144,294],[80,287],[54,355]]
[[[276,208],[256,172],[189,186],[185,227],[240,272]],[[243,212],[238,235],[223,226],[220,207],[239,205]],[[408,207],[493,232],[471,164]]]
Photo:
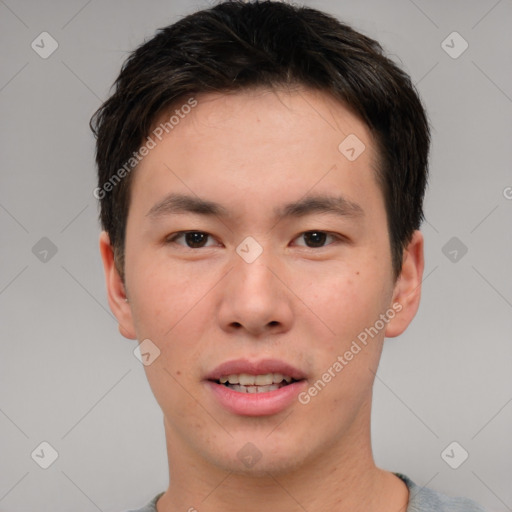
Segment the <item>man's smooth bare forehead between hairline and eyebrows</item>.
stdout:
[[375,193],[369,129],[319,91],[260,88],[184,98],[156,120],[149,137],[155,144],[137,168],[132,198],[141,191],[146,200],[163,197],[164,181],[205,198],[266,192],[297,199],[333,188],[350,189],[354,198]]

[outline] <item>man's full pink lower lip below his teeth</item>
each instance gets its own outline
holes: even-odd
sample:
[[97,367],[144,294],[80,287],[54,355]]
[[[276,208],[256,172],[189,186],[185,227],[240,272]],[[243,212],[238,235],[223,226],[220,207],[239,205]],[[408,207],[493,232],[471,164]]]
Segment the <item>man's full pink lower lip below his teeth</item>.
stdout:
[[269,416],[284,411],[307,386],[301,380],[265,393],[241,393],[210,380],[206,384],[224,408],[242,416]]

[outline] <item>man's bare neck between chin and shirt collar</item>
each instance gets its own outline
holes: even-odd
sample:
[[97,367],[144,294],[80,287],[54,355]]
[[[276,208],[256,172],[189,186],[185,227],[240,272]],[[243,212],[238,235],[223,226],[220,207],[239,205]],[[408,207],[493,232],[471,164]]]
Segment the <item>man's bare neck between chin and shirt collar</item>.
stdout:
[[405,512],[407,487],[398,477],[376,467],[369,417],[364,416],[354,422],[342,441],[321,447],[296,467],[270,467],[259,473],[236,473],[199,457],[166,422],[170,485],[157,510],[382,512],[389,507],[393,512]]

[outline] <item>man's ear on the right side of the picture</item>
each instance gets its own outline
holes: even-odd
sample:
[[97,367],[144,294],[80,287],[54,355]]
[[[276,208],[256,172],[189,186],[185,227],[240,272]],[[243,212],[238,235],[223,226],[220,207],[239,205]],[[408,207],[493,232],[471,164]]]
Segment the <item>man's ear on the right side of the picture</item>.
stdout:
[[420,305],[424,266],[423,234],[416,230],[404,249],[402,270],[393,291],[392,305],[397,314],[386,327],[387,338],[402,334],[416,315]]

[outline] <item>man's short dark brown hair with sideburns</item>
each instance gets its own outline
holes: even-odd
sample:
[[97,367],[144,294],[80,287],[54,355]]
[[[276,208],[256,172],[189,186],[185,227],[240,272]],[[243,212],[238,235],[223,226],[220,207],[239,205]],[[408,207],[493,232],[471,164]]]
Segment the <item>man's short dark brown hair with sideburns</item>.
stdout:
[[[131,53],[114,85],[90,126],[97,139],[100,220],[122,276],[132,173],[112,180],[155,120],[199,93],[300,85],[337,98],[377,141],[377,178],[398,277],[403,249],[423,220],[430,130],[409,76],[378,42],[316,9],[229,0],[159,29]],[[107,183],[113,185],[108,190]]]

